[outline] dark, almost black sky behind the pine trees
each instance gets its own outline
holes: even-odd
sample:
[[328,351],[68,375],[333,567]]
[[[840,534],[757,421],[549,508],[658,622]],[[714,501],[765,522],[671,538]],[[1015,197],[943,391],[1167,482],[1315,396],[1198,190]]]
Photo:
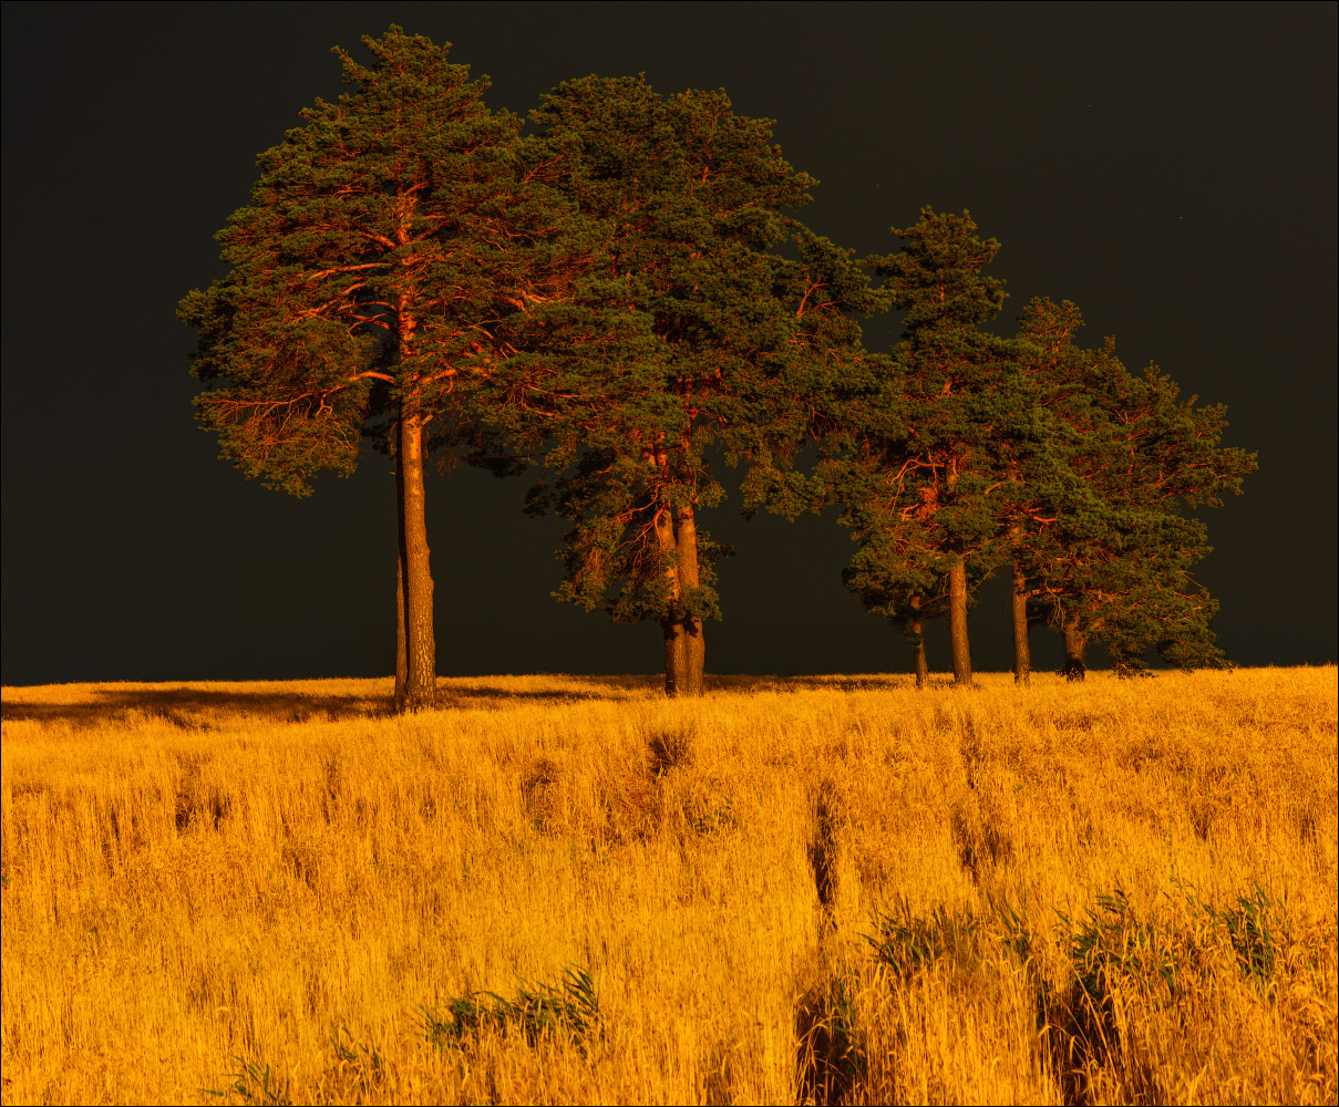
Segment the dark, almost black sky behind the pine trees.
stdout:
[[[822,183],[806,221],[861,253],[931,203],[1003,242],[1014,315],[1070,299],[1260,451],[1208,515],[1201,581],[1248,665],[1336,651],[1334,4],[5,4],[3,676],[384,675],[392,478],[370,455],[297,501],[248,483],[193,422],[174,309],[220,274],[212,234],[254,155],[341,91],[335,44],[399,23],[454,43],[526,111],[557,82],[645,72],[777,119]],[[885,320],[866,341],[886,344]],[[727,479],[736,479],[728,474]],[[434,478],[443,675],[655,672],[659,628],[549,597],[561,521],[524,478]],[[738,503],[738,499],[734,501]],[[722,673],[907,668],[845,592],[832,517],[707,521],[735,545]],[[1006,590],[972,616],[1007,669]],[[1054,634],[1034,630],[1040,664]],[[947,667],[943,637],[932,665]]]

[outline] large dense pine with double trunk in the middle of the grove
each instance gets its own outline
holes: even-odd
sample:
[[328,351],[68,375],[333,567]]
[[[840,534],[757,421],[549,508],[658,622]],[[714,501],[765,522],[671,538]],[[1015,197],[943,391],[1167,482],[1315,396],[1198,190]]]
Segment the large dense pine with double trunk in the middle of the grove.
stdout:
[[861,356],[849,312],[877,300],[848,252],[789,214],[813,179],[724,92],[585,78],[532,119],[601,242],[506,380],[509,432],[542,443],[554,474],[530,510],[573,523],[556,596],[660,622],[667,693],[700,695],[727,553],[700,525],[724,495],[708,451],[747,459],[754,485],[778,479],[815,398]]

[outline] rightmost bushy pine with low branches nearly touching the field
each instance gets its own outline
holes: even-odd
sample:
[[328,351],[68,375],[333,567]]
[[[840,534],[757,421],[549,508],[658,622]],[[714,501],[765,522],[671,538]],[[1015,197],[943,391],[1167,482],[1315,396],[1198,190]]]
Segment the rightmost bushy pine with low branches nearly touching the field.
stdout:
[[1062,629],[1071,679],[1082,679],[1091,641],[1118,672],[1142,668],[1153,645],[1169,664],[1221,664],[1209,629],[1217,601],[1190,574],[1209,553],[1206,529],[1186,513],[1240,493],[1255,454],[1221,446],[1224,407],[1180,400],[1156,367],[1131,375],[1110,339],[1077,347],[1081,325],[1073,304],[1047,300],[1020,320],[1031,368],[1048,379],[1070,431],[1070,485],[1050,490],[1039,510],[1052,518],[1019,543],[1030,609]]

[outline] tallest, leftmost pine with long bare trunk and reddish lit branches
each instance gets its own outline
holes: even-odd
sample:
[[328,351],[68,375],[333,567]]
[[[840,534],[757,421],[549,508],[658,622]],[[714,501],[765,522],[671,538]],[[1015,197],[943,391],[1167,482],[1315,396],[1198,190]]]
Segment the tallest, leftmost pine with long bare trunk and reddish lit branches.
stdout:
[[200,329],[198,419],[248,478],[305,495],[317,471],[352,473],[364,436],[395,454],[396,708],[416,709],[435,701],[426,456],[471,440],[477,381],[566,270],[546,246],[552,197],[518,178],[521,123],[485,106],[487,79],[399,27],[363,43],[372,66],[335,51],[355,91],[260,155],[218,234],[228,274],[179,315]]

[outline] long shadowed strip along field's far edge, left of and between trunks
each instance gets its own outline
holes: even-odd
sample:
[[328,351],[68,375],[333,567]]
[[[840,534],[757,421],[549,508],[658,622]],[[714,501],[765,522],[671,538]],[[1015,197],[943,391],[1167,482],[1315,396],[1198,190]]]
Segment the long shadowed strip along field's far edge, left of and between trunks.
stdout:
[[[708,692],[787,692],[830,689],[852,692],[886,689],[908,684],[907,676],[708,676]],[[327,684],[327,687],[320,687]],[[388,680],[349,681],[348,691],[333,691],[327,681],[276,683],[272,687],[86,685],[71,688],[7,689],[0,703],[5,721],[35,720],[88,727],[135,726],[166,721],[181,730],[217,730],[254,723],[307,723],[340,719],[375,719],[391,713]],[[362,687],[358,687],[362,685]],[[664,677],[561,676],[546,673],[520,677],[439,677],[443,709],[486,711],[521,703],[580,703],[629,700],[655,696]],[[67,699],[68,697],[68,699]]]

